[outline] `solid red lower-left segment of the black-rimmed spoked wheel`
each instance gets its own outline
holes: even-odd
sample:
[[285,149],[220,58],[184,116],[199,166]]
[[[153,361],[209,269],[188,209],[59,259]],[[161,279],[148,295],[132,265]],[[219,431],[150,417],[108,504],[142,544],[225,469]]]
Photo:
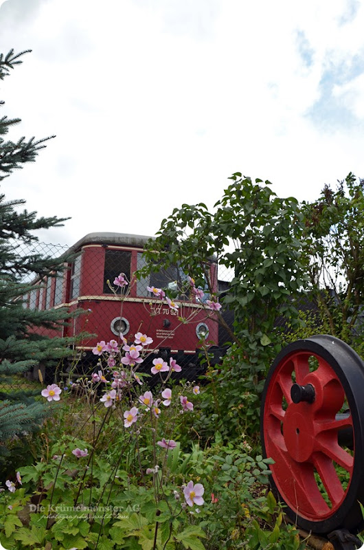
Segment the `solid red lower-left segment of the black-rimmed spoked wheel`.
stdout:
[[275,461],[271,466],[273,478],[282,480],[277,487],[282,496],[300,514],[327,514],[330,508],[319,492],[312,464],[295,462],[288,454],[283,439],[273,441],[268,437],[271,440],[271,458]]

